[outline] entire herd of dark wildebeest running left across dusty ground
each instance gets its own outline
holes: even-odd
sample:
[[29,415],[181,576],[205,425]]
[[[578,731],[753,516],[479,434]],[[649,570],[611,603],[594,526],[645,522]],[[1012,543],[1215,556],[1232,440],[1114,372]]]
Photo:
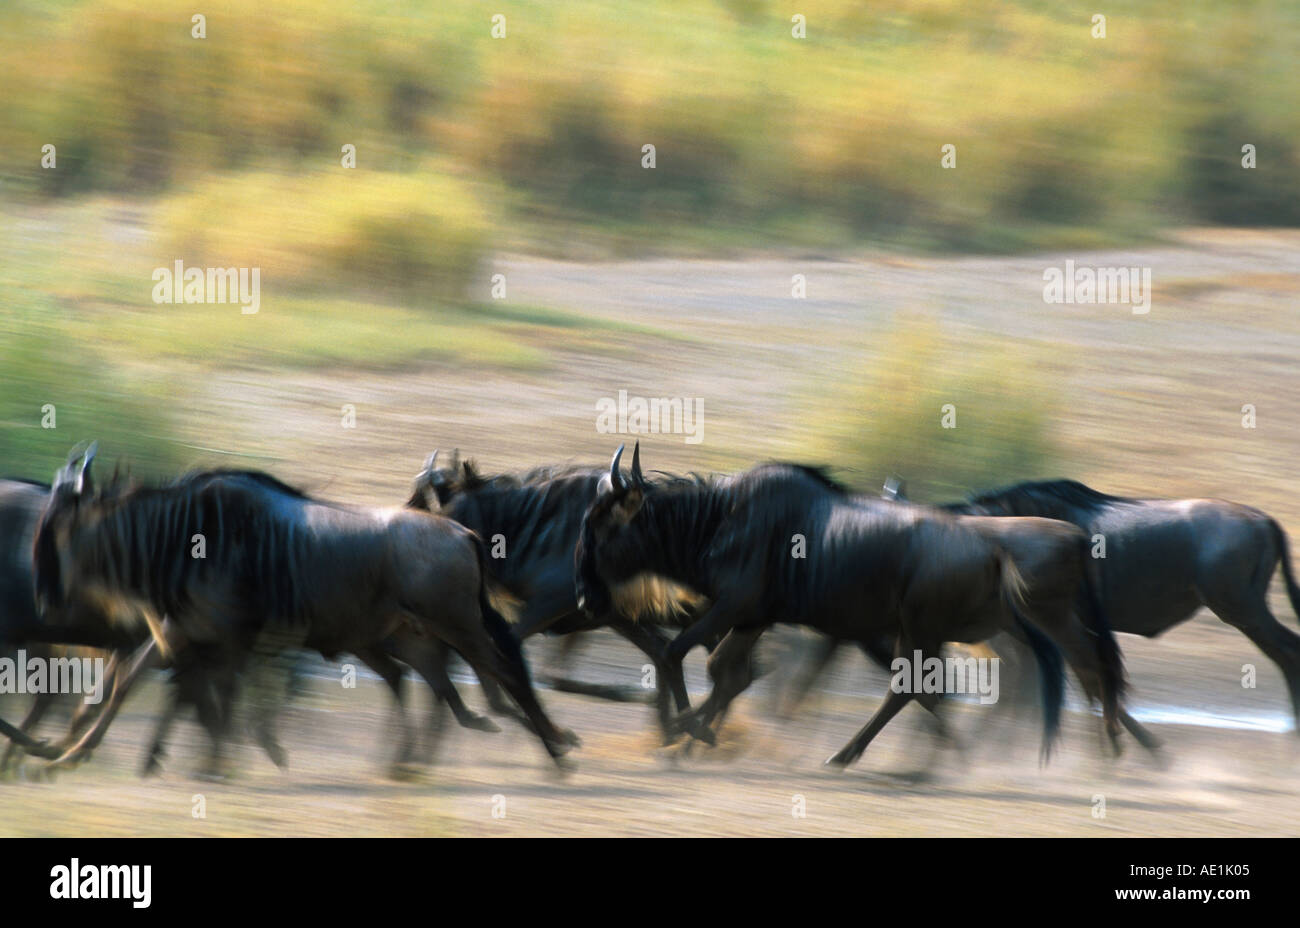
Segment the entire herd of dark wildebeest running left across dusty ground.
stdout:
[[[1300,615],[1287,535],[1264,512],[1214,499],[1130,499],[1074,481],[1019,483],[967,502],[922,506],[892,482],[850,493],[822,468],[768,463],[731,476],[629,472],[620,447],[599,468],[484,476],[459,456],[428,459],[394,508],[316,499],[252,470],[200,470],[147,485],[92,476],[95,446],[74,448],[49,486],[0,481],[0,643],[53,655],[107,655],[108,698],[57,742],[0,719],[20,751],[53,766],[84,760],[151,667],[170,668],[170,698],[144,762],[157,769],[168,730],[192,706],[207,730],[204,771],[224,771],[237,695],[283,671],[286,652],[354,655],[391,689],[400,719],[394,769],[433,756],[403,708],[407,668],[436,711],[480,730],[451,676],[473,669],[494,712],[524,724],[558,763],[580,745],[538,701],[521,642],[608,628],[656,669],[664,743],[712,743],[728,704],[755,678],[754,649],[775,624],[822,633],[824,662],[853,643],[874,662],[937,656],[946,642],[997,633],[1037,665],[1044,758],[1057,736],[1069,667],[1122,729],[1157,741],[1124,708],[1115,632],[1153,637],[1201,606],[1282,669],[1300,715],[1300,636],[1268,607],[1280,563]],[[510,604],[507,610],[506,604]],[[514,623],[500,610],[517,612]],[[708,649],[712,689],[690,706],[688,652]],[[911,699],[890,686],[828,763],[857,760]],[[0,703],[3,704],[3,703]],[[274,703],[251,732],[278,764]],[[421,747],[422,742],[422,747]]]

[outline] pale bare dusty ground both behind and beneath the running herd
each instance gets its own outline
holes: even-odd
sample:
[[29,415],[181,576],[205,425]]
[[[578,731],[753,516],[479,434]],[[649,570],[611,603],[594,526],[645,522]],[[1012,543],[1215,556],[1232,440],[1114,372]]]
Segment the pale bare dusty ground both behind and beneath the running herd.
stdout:
[[[1150,266],[1150,313],[1044,304],[1043,269],[1066,257]],[[195,460],[268,468],[338,499],[400,503],[438,446],[459,446],[488,469],[607,460],[615,437],[595,432],[595,402],[620,387],[705,398],[705,443],[651,439],[650,467],[727,469],[800,456],[809,391],[858,376],[874,338],[900,313],[922,312],[958,334],[994,333],[1054,350],[1052,374],[1070,398],[1060,432],[1086,461],[1080,478],[1119,493],[1230,496],[1300,534],[1292,489],[1300,460],[1295,233],[1188,233],[1178,246],[1140,255],[511,257],[498,269],[520,303],[649,322],[680,338],[628,335],[602,354],[559,342],[551,369],[530,373],[217,368],[190,376],[177,368],[164,373],[191,387],[179,417],[183,438],[234,452],[196,451]],[[790,300],[793,273],[807,274],[807,300]],[[354,430],[339,425],[344,403],[356,404]],[[1258,406],[1254,432],[1240,426],[1243,403]],[[1295,628],[1277,593],[1273,607]],[[1156,642],[1122,643],[1140,708],[1290,720],[1279,675],[1213,617]],[[633,684],[641,663],[606,641],[577,669]],[[1257,689],[1243,689],[1244,663],[1258,664]],[[415,784],[384,777],[384,694],[372,682],[343,691],[325,680],[283,720],[290,771],[244,749],[237,780],[194,780],[203,742],[187,727],[168,775],[140,781],[134,771],[157,702],[156,693],[142,694],[90,766],[55,782],[0,784],[0,834],[1300,833],[1294,732],[1160,725],[1170,756],[1161,769],[1134,747],[1118,762],[1100,759],[1093,720],[1071,714],[1061,754],[1040,769],[1034,717],[992,729],[985,716],[959,707],[967,753],[931,763],[924,716],[909,710],[858,767],[832,775],[822,760],[866,720],[884,686],[862,667],[845,659],[831,681],[836,695],[796,723],[771,720],[760,684],[742,701],[729,742],[689,758],[655,747],[646,707],[549,693],[555,717],[585,740],[572,773],[558,776],[515,728],[497,736],[450,730],[441,763]],[[477,690],[469,694],[478,699]],[[919,769],[933,779],[893,776]],[[191,814],[198,794],[205,819]],[[493,818],[494,795],[504,797],[504,818]],[[1105,818],[1093,815],[1098,795]],[[806,818],[792,815],[796,797]]]

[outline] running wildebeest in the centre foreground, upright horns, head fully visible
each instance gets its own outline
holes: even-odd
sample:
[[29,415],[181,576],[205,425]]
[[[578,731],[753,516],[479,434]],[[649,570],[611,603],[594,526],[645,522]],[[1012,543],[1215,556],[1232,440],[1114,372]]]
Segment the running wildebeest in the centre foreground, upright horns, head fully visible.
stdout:
[[[1095,682],[1104,706],[1118,703],[1119,652],[1098,643],[1109,630],[1086,628],[1071,611],[1027,613],[1015,561],[971,520],[853,498],[824,472],[792,464],[650,486],[638,476],[640,448],[630,482],[619,470],[621,455],[620,447],[584,519],[578,602],[592,612],[608,610],[624,584],[646,573],[706,597],[710,608],[667,652],[680,665],[707,637],[725,636],[708,662],[715,686],[696,714],[702,723],[749,684],[744,664],[772,621],[864,645],[892,634],[894,655],[907,660],[918,651],[922,660],[937,658],[945,641],[979,642],[1018,629],[1044,677],[1044,755],[1060,723],[1061,651],[1080,678]],[[1053,525],[1075,545],[1078,529]],[[794,556],[794,545],[802,545],[803,556]],[[890,688],[867,725],[828,763],[853,763],[913,698]],[[1113,737],[1117,724],[1108,717]]]

